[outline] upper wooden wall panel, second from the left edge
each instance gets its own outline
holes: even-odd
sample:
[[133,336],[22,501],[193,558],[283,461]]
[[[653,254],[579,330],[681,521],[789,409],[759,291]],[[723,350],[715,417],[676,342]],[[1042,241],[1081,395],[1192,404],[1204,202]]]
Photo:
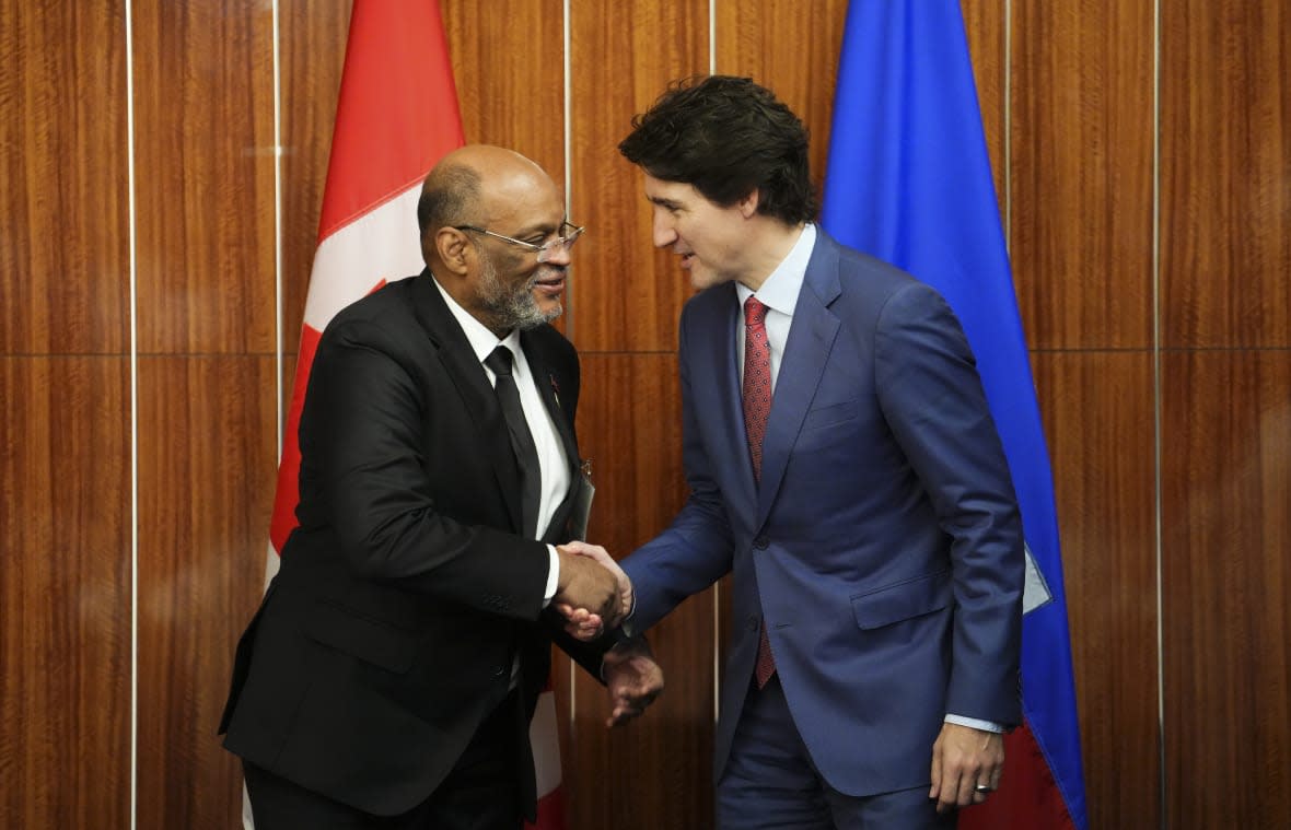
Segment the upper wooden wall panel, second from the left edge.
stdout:
[[133,8],[139,351],[271,352],[271,8]]

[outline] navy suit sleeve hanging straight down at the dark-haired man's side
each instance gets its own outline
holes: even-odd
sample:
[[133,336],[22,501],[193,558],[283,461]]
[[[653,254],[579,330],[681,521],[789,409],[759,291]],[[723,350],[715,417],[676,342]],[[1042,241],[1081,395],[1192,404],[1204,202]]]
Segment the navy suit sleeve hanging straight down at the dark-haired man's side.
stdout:
[[1008,463],[967,338],[931,288],[886,303],[879,405],[950,538],[955,617],[946,711],[1016,724],[1024,547]]

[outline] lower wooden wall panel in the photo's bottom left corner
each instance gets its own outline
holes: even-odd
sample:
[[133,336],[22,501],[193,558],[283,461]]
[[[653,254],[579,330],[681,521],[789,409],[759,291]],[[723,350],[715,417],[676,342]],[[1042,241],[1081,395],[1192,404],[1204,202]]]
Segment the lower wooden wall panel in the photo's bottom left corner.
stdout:
[[129,826],[129,385],[123,358],[0,356],[5,827]]

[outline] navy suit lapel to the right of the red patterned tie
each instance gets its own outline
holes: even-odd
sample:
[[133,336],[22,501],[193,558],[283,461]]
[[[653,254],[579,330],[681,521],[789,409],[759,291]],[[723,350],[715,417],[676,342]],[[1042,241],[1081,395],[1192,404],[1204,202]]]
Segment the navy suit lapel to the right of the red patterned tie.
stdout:
[[776,491],[784,479],[789,454],[816,387],[825,373],[829,352],[838,337],[838,318],[829,310],[840,293],[838,283],[838,249],[833,240],[817,231],[816,249],[807,263],[803,288],[798,293],[789,341],[776,376],[771,399],[767,434],[762,443],[762,483],[758,488],[758,524],[771,511]]

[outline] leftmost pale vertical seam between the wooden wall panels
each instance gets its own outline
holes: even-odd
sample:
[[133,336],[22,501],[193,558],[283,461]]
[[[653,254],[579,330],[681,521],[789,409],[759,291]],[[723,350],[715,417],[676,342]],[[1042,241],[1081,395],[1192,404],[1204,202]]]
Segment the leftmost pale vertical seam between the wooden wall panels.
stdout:
[[134,199],[134,8],[125,0],[125,178],[130,268],[130,830],[138,826],[139,732],[139,382],[138,210]]

